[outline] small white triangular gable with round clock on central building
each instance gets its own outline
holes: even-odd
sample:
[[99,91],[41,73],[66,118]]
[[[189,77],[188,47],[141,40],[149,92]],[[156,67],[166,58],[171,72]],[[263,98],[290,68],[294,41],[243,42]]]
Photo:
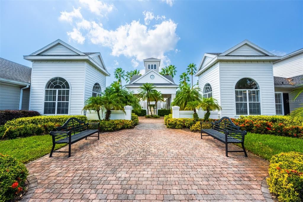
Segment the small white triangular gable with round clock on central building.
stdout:
[[[150,78],[151,75],[154,75],[155,78],[151,79]],[[138,79],[136,79],[130,83],[174,83],[174,82],[170,81],[169,79],[167,79],[165,76],[159,74],[158,72],[156,72],[154,70],[150,70],[150,71],[146,72],[145,74],[143,74],[142,76],[140,76]]]

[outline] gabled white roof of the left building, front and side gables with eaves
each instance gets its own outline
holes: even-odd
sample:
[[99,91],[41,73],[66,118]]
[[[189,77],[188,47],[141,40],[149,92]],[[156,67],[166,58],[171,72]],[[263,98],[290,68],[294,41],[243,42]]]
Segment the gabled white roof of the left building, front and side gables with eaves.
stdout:
[[[58,49],[60,49],[58,51]],[[63,50],[63,51],[62,51]],[[57,54],[57,52],[59,52]],[[100,62],[94,58],[99,58]],[[106,76],[110,76],[103,62],[100,52],[81,52],[64,41],[57,39],[56,41],[44,46],[28,56],[23,56],[28,61],[34,60],[86,60],[96,66]],[[101,63],[101,64],[100,64]]]

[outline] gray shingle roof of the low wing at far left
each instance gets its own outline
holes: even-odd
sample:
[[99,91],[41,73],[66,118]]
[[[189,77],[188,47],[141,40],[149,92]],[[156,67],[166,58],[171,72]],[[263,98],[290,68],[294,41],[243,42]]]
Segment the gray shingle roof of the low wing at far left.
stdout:
[[32,68],[0,58],[0,78],[18,82],[31,82]]

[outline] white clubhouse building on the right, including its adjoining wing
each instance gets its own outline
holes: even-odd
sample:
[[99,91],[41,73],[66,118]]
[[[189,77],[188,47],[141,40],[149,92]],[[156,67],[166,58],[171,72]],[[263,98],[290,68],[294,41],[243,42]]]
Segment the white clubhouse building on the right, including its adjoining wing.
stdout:
[[275,56],[245,40],[221,53],[205,53],[198,71],[204,97],[222,110],[212,118],[240,115],[286,115],[299,107],[291,90],[303,83],[303,49]]

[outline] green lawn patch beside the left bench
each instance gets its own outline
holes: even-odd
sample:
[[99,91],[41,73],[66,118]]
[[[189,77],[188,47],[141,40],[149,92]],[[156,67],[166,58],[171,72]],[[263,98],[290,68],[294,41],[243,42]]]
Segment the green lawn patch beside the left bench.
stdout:
[[[59,149],[66,144],[56,144]],[[51,152],[52,136],[40,135],[0,141],[0,153],[15,157],[22,163],[35,160]]]

